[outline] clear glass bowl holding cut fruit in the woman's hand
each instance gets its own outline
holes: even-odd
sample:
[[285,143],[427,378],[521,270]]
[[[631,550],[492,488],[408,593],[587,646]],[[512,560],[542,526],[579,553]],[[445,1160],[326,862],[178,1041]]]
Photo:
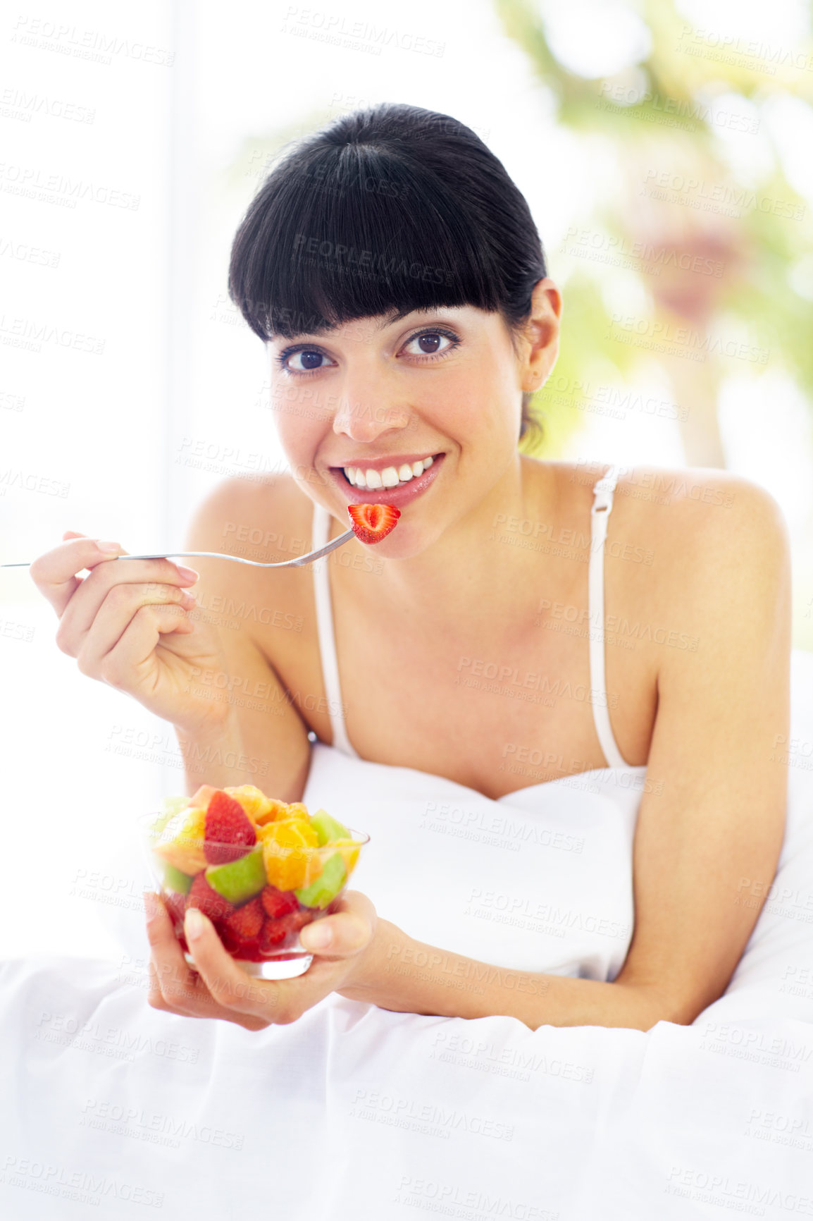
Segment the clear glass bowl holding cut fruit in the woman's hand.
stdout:
[[[142,814],[137,823],[155,890],[187,962],[195,965],[183,917],[194,906],[209,916],[225,950],[248,974],[265,979],[304,974],[313,955],[299,930],[337,910],[370,836],[348,827],[348,839],[309,846],[299,841],[295,828],[283,827],[291,819],[281,819],[255,828],[254,844],[234,844],[171,835],[171,818],[172,811],[165,808]],[[176,821],[176,830],[177,825]],[[276,832],[270,830],[273,827]]]

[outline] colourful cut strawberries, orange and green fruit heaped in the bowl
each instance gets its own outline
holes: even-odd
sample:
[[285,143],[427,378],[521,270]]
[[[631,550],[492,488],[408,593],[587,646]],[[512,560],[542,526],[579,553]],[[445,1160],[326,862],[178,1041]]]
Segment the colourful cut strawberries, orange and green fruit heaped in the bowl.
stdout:
[[184,954],[187,907],[199,907],[234,958],[302,957],[299,929],[338,906],[369,836],[323,810],[266,797],[254,785],[168,797],[148,850]]

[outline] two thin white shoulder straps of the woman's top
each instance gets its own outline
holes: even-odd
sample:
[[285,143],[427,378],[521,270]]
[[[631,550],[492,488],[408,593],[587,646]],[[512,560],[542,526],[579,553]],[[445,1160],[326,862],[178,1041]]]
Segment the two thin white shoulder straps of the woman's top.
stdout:
[[[607,766],[629,767],[615,742],[610,726],[607,680],[604,678],[604,542],[607,521],[613,508],[613,492],[619,468],[610,466],[593,487],[593,507],[590,515],[590,567],[587,574],[587,610],[590,624],[590,690],[596,733]],[[314,504],[311,549],[323,547],[328,540],[331,515],[321,504]],[[339,687],[333,612],[328,582],[327,558],[311,564],[314,596],[316,602],[316,630],[322,659],[325,695],[333,731],[333,746],[353,758],[360,756],[350,745],[344,724],[344,705]]]

